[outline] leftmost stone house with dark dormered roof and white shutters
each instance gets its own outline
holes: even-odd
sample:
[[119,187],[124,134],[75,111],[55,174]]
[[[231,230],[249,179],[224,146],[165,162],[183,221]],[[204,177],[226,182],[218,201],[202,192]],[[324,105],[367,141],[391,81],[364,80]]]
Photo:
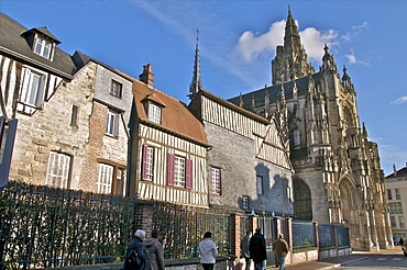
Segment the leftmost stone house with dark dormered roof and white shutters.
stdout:
[[131,80],[46,27],[0,20],[1,113],[19,119],[10,179],[123,194]]

